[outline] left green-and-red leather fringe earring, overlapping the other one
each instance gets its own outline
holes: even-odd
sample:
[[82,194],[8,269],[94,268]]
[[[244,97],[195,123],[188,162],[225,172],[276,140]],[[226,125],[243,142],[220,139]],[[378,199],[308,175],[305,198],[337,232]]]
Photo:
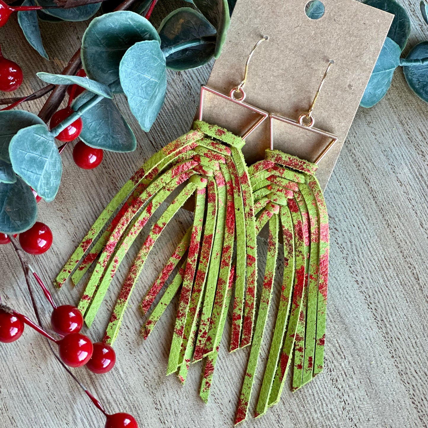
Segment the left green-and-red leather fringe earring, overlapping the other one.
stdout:
[[[205,401],[208,399],[232,289],[235,291],[232,327],[235,339],[231,349],[238,348],[241,331],[241,346],[250,344],[252,338],[257,277],[256,226],[253,192],[241,148],[245,144],[244,138],[268,117],[264,110],[244,102],[248,62],[263,40],[267,37],[261,39],[251,51],[244,80],[231,90],[229,96],[202,86],[199,120],[194,122],[193,131],[169,143],[131,177],[100,214],[56,278],[56,284],[61,287],[72,274],[72,282],[76,285],[98,257],[78,305],[90,327],[134,240],[153,214],[160,211],[163,202],[168,197],[174,197],[152,226],[122,285],[104,335],[104,342],[113,344],[150,251],[178,209],[195,195],[193,225],[141,303],[145,315],[175,268],[178,268],[143,326],[142,334],[145,339],[149,336],[181,287],[167,374],[178,371],[179,379],[184,382],[192,357],[194,362],[206,357],[201,386],[201,397]],[[203,101],[207,91],[258,113],[259,119],[242,137],[203,122]],[[101,234],[112,217],[113,220]],[[237,256],[233,260],[235,238]]]

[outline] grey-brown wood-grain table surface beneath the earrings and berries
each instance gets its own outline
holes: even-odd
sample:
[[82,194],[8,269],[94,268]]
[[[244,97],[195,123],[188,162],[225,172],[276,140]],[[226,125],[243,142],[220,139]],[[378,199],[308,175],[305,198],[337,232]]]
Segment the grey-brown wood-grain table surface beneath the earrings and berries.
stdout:
[[[407,53],[428,38],[428,26],[419,18],[419,1],[405,3],[413,26]],[[29,47],[15,17],[0,29],[4,55],[24,71],[25,82],[18,95],[43,85],[35,76],[37,71],[62,70],[79,47],[86,26],[85,22],[42,23],[51,62]],[[31,257],[49,285],[129,176],[190,128],[199,86],[208,79],[211,66],[168,72],[166,102],[148,134],[130,115],[125,98],[119,97],[119,108],[137,135],[134,153],[106,152],[101,166],[85,171],[74,164],[71,147],[65,150],[58,196],[54,202],[39,204],[39,220],[51,227],[53,246],[44,255]],[[42,103],[38,100],[25,107],[37,113]],[[427,426],[427,124],[428,105],[411,92],[401,69],[395,71],[392,86],[379,104],[358,110],[325,192],[331,237],[325,370],[294,394],[286,387],[279,404],[261,419],[249,418],[243,426]],[[199,398],[200,363],[191,366],[184,387],[174,376],[165,376],[177,300],[146,342],[140,336],[140,299],[191,219],[192,214],[181,211],[171,233],[151,255],[115,343],[115,369],[104,376],[85,368],[73,370],[109,412],[128,411],[140,427],[233,425],[248,349],[228,354],[229,327],[208,405]],[[263,259],[263,241],[259,241],[259,249]],[[135,250],[128,255],[128,264],[134,254]],[[88,332],[94,341],[102,339],[126,270],[120,270],[113,292]],[[0,248],[0,272],[3,302],[34,318],[24,275],[10,245]],[[60,303],[77,303],[81,292],[81,285],[76,289],[66,285],[54,295]],[[50,310],[39,290],[37,299],[47,324]],[[251,413],[268,350],[265,341]],[[1,427],[104,426],[104,416],[54,360],[45,340],[30,328],[18,342],[0,346],[0,360]]]

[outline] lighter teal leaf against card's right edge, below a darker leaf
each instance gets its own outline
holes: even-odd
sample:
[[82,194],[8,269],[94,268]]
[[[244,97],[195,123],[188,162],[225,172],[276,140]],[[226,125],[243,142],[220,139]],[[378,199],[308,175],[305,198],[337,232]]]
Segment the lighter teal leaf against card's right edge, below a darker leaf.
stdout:
[[373,107],[386,94],[391,86],[395,68],[400,63],[401,49],[389,37],[386,38],[360,105]]

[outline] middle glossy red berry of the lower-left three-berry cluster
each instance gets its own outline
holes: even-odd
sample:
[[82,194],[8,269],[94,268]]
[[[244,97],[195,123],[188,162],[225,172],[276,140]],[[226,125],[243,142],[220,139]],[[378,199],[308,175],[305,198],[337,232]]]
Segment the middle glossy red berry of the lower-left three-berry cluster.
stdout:
[[84,366],[92,357],[91,339],[80,333],[70,333],[58,341],[59,356],[70,367]]

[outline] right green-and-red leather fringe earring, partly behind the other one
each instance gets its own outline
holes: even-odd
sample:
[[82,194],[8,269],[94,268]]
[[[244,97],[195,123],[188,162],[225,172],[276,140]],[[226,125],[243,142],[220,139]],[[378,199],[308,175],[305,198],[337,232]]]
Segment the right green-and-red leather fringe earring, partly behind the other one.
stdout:
[[[278,234],[284,241],[284,275],[268,363],[255,416],[279,401],[294,351],[293,390],[324,366],[329,230],[324,196],[315,178],[318,162],[337,137],[315,128],[313,108],[333,65],[330,60],[309,110],[297,120],[270,114],[270,149],[249,168],[256,230],[269,222],[268,255],[262,296],[235,424],[247,416],[272,295]],[[273,147],[273,122],[280,121],[328,137],[315,161],[287,155]]]

